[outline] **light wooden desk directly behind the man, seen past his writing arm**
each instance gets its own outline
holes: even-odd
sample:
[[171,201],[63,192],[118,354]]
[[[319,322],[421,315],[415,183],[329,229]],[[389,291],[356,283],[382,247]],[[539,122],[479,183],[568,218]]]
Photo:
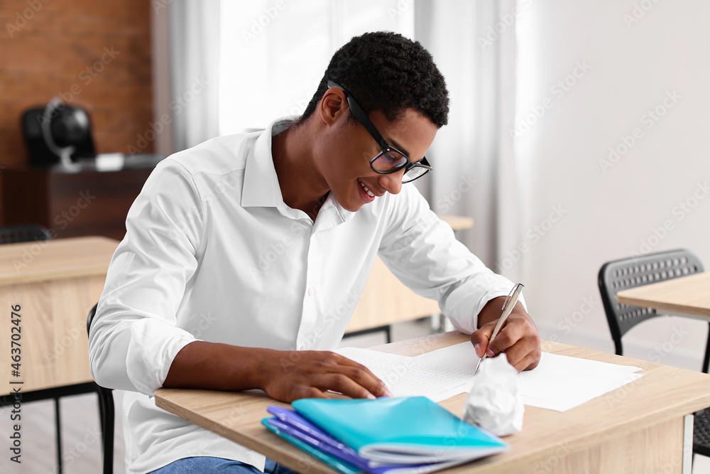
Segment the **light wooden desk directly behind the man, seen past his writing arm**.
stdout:
[[[439,215],[439,218],[447,222],[454,232],[474,225],[470,217]],[[439,312],[437,301],[423,298],[408,289],[380,257],[376,257],[346,333],[412,321]]]

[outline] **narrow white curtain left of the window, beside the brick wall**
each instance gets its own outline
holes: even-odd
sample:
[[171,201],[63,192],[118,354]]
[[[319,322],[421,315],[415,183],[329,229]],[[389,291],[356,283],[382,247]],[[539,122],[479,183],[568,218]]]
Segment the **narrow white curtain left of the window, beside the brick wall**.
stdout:
[[219,134],[219,0],[170,4],[173,151]]

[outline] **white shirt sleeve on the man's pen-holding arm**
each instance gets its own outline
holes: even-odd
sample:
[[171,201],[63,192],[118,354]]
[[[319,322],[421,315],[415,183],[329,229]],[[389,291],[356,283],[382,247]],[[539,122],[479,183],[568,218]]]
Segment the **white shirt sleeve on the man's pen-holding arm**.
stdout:
[[493,298],[508,296],[513,282],[493,273],[430,210],[413,186],[395,196],[378,254],[403,284],[439,308],[457,330],[470,334]]

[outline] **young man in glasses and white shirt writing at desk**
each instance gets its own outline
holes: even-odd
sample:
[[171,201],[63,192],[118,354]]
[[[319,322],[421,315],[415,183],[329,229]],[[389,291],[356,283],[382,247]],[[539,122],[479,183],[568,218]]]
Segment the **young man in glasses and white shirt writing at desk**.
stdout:
[[425,152],[448,102],[419,43],[368,33],[335,53],[302,117],[209,140],[155,168],[89,338],[97,382],[129,391],[129,473],[283,472],[156,408],[159,387],[263,389],[283,402],[328,390],[389,394],[365,367],[329,352],[377,254],[473,333],[479,355],[504,350],[518,370],[537,365],[540,340],[521,303],[488,347],[513,284],[403,185],[430,170]]

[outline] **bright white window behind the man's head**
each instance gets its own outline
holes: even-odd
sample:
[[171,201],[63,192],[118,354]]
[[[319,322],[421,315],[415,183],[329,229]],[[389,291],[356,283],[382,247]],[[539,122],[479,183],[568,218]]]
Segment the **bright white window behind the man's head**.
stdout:
[[414,38],[414,0],[222,0],[219,134],[301,114],[333,53],[366,31]]

